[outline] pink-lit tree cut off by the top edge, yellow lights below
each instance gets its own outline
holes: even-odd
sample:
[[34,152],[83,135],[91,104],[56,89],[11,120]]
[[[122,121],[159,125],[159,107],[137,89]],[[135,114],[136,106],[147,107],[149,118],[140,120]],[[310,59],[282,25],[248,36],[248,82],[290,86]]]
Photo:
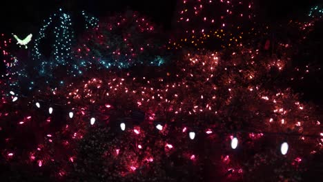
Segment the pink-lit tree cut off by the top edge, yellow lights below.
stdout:
[[176,36],[170,47],[193,46],[203,49],[240,45],[248,34],[262,35],[255,30],[253,1],[181,0],[175,15]]

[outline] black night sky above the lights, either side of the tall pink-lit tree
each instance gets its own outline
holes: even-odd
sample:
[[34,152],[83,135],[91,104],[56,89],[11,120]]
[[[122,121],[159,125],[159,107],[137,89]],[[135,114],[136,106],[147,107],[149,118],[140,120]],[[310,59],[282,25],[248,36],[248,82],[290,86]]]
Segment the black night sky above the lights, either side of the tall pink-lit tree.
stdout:
[[[43,19],[60,7],[79,12],[86,10],[98,17],[122,12],[126,8],[137,10],[156,23],[170,28],[177,0],[10,0],[1,2],[0,32],[28,34],[37,32]],[[320,0],[257,0],[260,1],[260,14],[266,21],[277,21],[295,14],[307,12],[309,7]]]

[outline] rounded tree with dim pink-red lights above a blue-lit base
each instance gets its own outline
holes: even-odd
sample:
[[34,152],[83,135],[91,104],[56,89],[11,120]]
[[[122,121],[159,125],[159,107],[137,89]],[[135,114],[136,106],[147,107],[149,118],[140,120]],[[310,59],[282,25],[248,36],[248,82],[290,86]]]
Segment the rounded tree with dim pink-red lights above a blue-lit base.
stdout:
[[164,63],[166,41],[153,23],[136,12],[108,17],[98,28],[81,37],[75,50],[80,61],[74,68],[128,68],[131,65]]

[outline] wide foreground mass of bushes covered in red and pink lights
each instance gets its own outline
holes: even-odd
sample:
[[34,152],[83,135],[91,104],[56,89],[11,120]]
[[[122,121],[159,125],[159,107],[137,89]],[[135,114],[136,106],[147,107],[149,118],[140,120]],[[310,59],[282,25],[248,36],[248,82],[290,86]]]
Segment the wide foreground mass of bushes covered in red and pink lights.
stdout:
[[271,181],[300,181],[322,153],[311,138],[320,121],[268,79],[288,59],[246,48],[198,53],[142,67],[140,77],[101,70],[32,98],[10,94],[1,105],[4,159],[68,181],[256,180],[265,171]]

